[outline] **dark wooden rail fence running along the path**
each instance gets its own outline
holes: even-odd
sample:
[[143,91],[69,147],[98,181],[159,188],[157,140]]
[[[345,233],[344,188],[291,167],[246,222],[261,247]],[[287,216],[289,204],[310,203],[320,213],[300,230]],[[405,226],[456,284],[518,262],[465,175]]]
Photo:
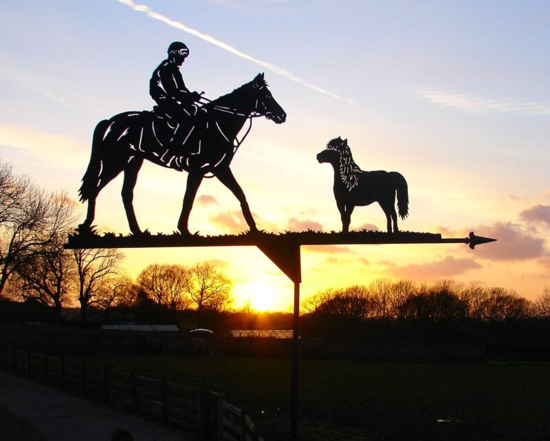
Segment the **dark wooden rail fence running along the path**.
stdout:
[[188,387],[65,357],[4,348],[0,365],[43,383],[118,403],[179,427],[203,440],[263,441],[252,420],[206,385]]

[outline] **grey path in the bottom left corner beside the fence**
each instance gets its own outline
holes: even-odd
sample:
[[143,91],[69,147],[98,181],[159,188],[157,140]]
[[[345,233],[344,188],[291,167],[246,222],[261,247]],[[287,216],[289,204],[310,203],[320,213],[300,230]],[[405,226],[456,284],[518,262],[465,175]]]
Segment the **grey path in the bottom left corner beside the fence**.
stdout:
[[109,441],[115,429],[134,441],[188,441],[179,429],[0,371],[0,441]]

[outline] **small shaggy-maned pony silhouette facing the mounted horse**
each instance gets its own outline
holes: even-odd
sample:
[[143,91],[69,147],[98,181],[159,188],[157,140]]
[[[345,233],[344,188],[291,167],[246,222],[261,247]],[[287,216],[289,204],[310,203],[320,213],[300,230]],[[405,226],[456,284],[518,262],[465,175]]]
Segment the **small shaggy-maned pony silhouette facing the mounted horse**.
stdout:
[[326,150],[317,155],[317,160],[328,162],[334,169],[334,197],[342,218],[342,231],[349,231],[351,213],[357,206],[377,202],[386,214],[388,233],[399,231],[395,212],[395,192],[401,219],[408,215],[407,181],[398,172],[377,170],[365,172],[353,161],[347,139],[331,139]]

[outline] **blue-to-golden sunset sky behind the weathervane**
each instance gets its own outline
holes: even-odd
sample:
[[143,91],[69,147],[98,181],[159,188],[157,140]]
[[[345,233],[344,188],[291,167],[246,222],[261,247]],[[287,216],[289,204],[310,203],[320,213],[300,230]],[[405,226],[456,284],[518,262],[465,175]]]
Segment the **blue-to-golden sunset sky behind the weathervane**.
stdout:
[[[172,41],[191,90],[216,98],[265,72],[287,113],[259,119],[232,170],[267,231],[340,230],[332,172],[316,154],[347,138],[363,170],[408,181],[409,231],[498,239],[466,245],[304,247],[303,297],[377,278],[550,286],[548,1],[0,1],[0,152],[18,173],[77,199],[97,122],[151,109],[148,81]],[[144,163],[140,226],[177,227],[186,174]],[[98,198],[102,231],[128,232],[122,179]],[[79,218],[85,217],[80,205]],[[378,205],[351,229],[384,229]],[[190,230],[245,230],[238,201],[203,182]],[[287,310],[292,284],[250,248],[126,250],[151,263],[217,264],[236,306]]]

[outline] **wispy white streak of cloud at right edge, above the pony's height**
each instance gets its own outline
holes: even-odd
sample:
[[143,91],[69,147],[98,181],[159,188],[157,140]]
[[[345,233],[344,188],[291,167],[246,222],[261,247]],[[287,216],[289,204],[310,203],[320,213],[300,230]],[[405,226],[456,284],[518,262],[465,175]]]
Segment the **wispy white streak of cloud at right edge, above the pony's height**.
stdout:
[[419,89],[416,94],[433,104],[467,112],[550,115],[550,102],[503,101],[472,93],[429,88]]

